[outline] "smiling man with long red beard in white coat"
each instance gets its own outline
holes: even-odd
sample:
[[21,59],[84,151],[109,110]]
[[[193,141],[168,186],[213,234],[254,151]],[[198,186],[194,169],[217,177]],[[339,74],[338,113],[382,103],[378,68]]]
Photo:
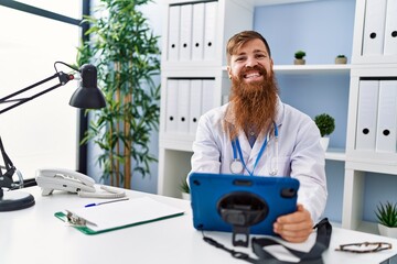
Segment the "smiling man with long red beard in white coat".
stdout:
[[303,242],[328,196],[319,129],[279,99],[270,48],[259,33],[234,35],[226,53],[230,100],[201,118],[192,172],[297,178],[297,211],[279,217],[273,231],[287,241]]

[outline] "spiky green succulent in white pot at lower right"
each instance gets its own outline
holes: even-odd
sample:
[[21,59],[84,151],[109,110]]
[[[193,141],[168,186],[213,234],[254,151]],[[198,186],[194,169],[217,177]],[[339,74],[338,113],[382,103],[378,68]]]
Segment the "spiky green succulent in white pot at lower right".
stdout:
[[397,202],[379,202],[375,211],[379,234],[397,239]]

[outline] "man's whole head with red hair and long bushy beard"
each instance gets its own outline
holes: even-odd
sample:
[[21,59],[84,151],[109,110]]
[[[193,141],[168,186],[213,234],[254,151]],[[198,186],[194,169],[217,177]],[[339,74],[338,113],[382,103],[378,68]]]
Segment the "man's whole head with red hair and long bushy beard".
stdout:
[[232,79],[228,109],[234,116],[230,140],[239,131],[254,130],[257,135],[266,132],[276,118],[278,101],[273,63],[266,40],[254,31],[240,32],[228,41],[226,54]]

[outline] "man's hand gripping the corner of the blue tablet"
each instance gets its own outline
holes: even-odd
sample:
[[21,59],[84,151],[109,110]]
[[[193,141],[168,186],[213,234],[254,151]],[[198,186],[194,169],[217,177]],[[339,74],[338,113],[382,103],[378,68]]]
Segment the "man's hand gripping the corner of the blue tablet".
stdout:
[[279,217],[273,223],[275,233],[288,242],[304,242],[313,231],[310,212],[298,205],[296,212]]

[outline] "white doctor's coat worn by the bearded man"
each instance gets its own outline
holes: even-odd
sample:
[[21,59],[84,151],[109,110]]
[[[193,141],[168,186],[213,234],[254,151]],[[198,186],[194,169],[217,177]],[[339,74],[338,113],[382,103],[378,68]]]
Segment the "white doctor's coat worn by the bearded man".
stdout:
[[[233,147],[223,127],[227,106],[228,103],[210,110],[201,117],[193,143],[192,172],[232,174],[229,166],[234,158]],[[311,213],[313,222],[318,222],[328,197],[324,151],[320,144],[319,129],[309,116],[280,100],[277,108],[278,157],[272,133],[254,175],[270,175],[277,162],[278,172],[275,177],[292,177],[300,182],[298,202]],[[233,123],[233,120],[227,121]],[[251,147],[244,132],[238,135],[249,170],[254,168],[265,138],[258,136]],[[245,174],[249,175],[246,169]]]

